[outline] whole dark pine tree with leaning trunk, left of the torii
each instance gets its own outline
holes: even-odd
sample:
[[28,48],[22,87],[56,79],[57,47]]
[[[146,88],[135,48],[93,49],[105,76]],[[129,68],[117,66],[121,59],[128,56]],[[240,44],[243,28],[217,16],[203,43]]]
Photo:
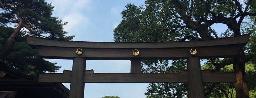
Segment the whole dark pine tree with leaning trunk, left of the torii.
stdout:
[[45,0],[0,1],[0,59],[30,75],[55,72],[60,67],[37,56],[26,43],[25,35],[71,40],[65,36],[62,20],[52,15],[53,6]]

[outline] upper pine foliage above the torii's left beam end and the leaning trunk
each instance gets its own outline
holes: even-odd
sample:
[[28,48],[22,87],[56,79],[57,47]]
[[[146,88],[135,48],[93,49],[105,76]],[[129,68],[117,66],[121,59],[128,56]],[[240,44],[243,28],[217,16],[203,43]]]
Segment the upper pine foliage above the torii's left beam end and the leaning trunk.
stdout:
[[0,1],[0,24],[10,26],[23,20],[21,33],[37,37],[51,39],[71,40],[73,36],[65,37],[62,20],[52,16],[53,6],[45,0],[1,0]]

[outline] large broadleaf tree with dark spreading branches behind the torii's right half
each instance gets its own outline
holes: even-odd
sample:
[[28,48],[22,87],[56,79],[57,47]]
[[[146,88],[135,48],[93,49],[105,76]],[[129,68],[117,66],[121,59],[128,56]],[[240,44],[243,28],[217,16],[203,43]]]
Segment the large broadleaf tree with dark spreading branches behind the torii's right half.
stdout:
[[[145,6],[127,4],[122,11],[122,21],[113,30],[116,42],[164,42],[188,41],[198,39],[214,39],[241,35],[244,31],[242,22],[246,16],[255,18],[255,0],[146,0]],[[250,21],[250,20],[249,20]],[[226,24],[227,30],[218,33],[212,29],[213,24]],[[246,26],[248,27],[248,26]],[[245,29],[246,30],[246,29]],[[255,34],[255,31],[251,31]],[[252,37],[254,37],[252,34]],[[245,63],[255,60],[251,43],[240,49],[234,58],[212,59],[211,71],[233,64],[237,82],[235,88],[237,98],[249,98],[246,84]],[[166,60],[142,61],[143,72],[177,72],[186,69],[185,60],[174,60],[171,65]],[[185,66],[183,66],[185,65]],[[214,91],[216,84],[205,87],[205,96]],[[219,92],[219,91],[218,91]],[[145,95],[160,98],[185,97],[186,83],[151,83]]]

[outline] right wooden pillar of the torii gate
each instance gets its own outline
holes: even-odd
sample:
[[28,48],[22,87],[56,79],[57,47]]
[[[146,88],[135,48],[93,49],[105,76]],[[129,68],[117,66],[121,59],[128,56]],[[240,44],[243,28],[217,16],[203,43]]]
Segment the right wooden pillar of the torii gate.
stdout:
[[189,57],[187,64],[189,71],[189,98],[204,98],[200,58]]

